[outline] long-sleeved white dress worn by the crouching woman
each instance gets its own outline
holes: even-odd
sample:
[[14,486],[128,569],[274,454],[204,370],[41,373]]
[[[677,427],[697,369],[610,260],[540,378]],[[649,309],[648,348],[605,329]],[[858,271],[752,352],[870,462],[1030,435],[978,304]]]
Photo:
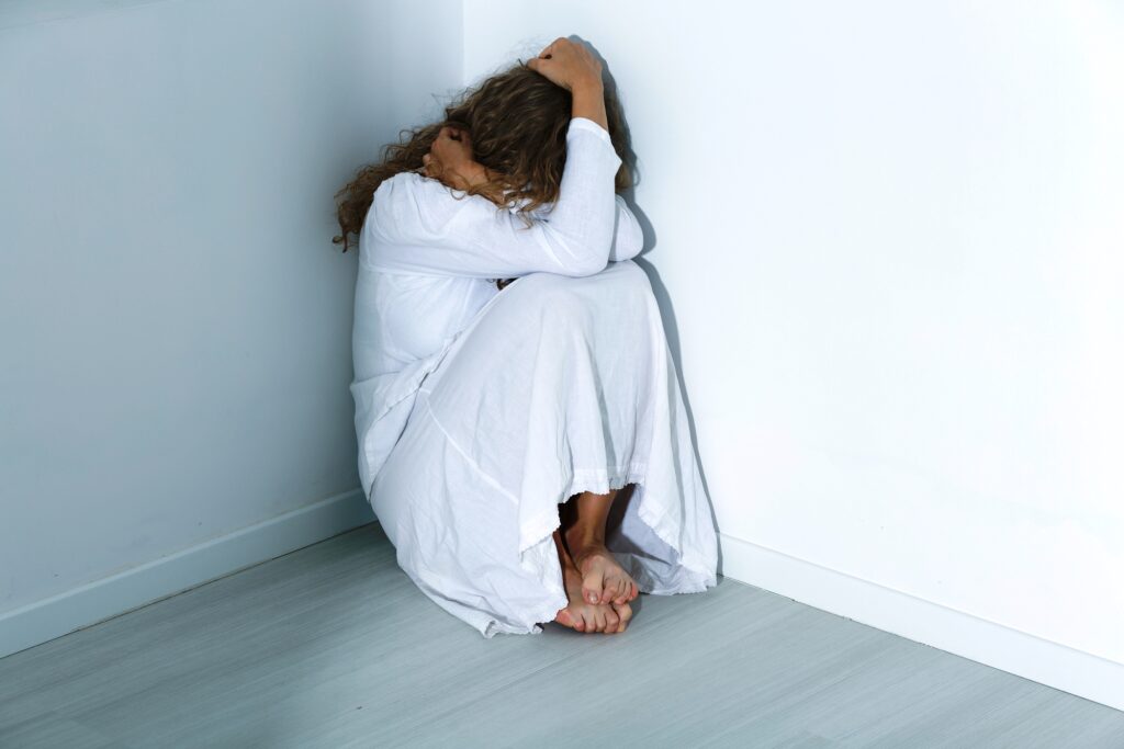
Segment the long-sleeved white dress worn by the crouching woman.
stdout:
[[[413,172],[360,235],[360,478],[399,566],[477,628],[566,605],[558,505],[636,484],[606,546],[653,594],[716,583],[717,535],[608,133],[573,118],[555,203],[514,211]],[[497,290],[495,278],[516,278]],[[624,495],[620,495],[624,496]]]

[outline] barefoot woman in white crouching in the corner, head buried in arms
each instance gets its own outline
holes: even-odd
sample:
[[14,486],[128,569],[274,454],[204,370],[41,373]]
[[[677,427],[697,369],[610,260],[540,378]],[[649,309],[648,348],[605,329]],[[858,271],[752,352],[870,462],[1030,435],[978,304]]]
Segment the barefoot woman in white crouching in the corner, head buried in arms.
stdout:
[[484,81],[337,197],[360,238],[360,477],[398,564],[475,627],[620,632],[715,585],[619,103],[581,43]]

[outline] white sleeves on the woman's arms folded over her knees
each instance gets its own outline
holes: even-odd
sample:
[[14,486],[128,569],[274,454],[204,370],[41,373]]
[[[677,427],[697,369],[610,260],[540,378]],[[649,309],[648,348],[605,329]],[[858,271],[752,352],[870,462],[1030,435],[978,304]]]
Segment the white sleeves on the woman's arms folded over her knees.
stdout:
[[[531,227],[482,195],[454,195],[437,180],[401,172],[374,193],[363,226],[366,262],[386,271],[480,278],[598,273],[614,250],[618,220],[635,221],[615,200],[619,166],[605,128],[572,118],[559,198]],[[626,245],[633,246],[623,243],[622,250]]]

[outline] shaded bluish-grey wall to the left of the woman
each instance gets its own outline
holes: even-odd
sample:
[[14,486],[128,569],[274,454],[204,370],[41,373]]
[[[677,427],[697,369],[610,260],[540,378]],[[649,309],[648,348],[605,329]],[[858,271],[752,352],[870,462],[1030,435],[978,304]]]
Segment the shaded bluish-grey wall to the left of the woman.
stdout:
[[6,4],[0,613],[357,485],[332,195],[460,40],[453,0]]

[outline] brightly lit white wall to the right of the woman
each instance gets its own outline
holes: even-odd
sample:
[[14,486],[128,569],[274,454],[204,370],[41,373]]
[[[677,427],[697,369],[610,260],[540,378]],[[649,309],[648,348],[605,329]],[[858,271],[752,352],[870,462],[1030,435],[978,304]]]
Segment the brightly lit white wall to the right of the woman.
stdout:
[[464,13],[619,84],[727,538],[1124,664],[1118,3]]

